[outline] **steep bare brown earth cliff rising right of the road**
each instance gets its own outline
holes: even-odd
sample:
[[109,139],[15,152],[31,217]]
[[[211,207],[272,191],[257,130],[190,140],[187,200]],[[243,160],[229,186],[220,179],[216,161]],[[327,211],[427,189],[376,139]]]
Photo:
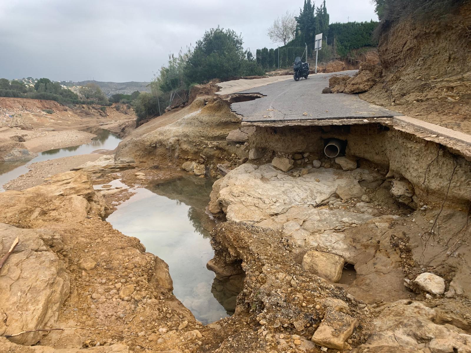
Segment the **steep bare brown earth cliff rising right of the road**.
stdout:
[[409,16],[385,28],[382,78],[361,97],[471,133],[471,4],[457,3],[450,13]]

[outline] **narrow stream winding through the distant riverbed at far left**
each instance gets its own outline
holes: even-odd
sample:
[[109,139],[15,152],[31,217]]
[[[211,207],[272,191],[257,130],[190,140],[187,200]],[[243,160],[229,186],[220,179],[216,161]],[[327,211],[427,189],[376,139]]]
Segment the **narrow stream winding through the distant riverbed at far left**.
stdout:
[[93,137],[88,144],[56,148],[41,152],[32,160],[0,163],[0,192],[5,191],[5,189],[3,189],[4,184],[16,179],[24,173],[27,173],[29,170],[28,165],[31,163],[42,162],[43,160],[54,160],[61,157],[71,157],[79,154],[88,154],[96,150],[114,150],[121,141],[120,137],[103,128],[92,127],[86,128],[83,131],[97,136]]

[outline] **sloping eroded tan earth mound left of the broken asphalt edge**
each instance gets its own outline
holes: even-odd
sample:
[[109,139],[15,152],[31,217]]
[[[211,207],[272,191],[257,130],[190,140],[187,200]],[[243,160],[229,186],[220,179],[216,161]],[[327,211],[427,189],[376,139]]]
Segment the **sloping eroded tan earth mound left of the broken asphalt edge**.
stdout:
[[137,128],[120,143],[116,158],[131,158],[143,167],[173,160],[179,160],[175,163],[179,166],[185,160],[196,160],[215,173],[218,163],[235,165],[236,160],[247,157],[243,144],[226,141],[229,132],[238,127],[240,118],[230,111],[228,102],[199,97],[189,106]]

